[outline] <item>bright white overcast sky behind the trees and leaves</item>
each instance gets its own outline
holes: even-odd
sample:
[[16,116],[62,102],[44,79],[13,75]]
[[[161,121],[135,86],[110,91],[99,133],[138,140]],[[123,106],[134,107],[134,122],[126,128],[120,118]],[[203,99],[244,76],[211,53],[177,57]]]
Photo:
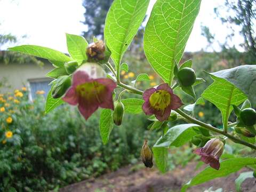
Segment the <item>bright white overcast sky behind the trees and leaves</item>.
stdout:
[[[18,42],[9,46],[30,44],[50,47],[67,53],[65,33],[81,35],[86,30],[84,21],[85,9],[82,0],[0,0],[0,34],[15,35]],[[156,0],[150,0],[147,13]],[[208,26],[218,42],[224,42],[228,29],[215,18],[213,8],[223,5],[225,0],[202,0],[201,9],[195,21],[193,31],[189,37],[185,51],[199,51],[206,49],[207,41],[201,35],[201,25]],[[23,36],[26,36],[22,38]],[[214,42],[215,51],[219,50],[218,42]],[[242,51],[239,44],[243,38],[235,35],[230,45],[235,45]]]

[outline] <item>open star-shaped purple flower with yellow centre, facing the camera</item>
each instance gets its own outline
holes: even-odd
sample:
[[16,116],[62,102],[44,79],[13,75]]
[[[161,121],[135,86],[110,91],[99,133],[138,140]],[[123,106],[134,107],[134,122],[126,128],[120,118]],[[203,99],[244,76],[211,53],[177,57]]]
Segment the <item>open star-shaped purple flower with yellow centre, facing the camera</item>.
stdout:
[[155,115],[159,121],[166,121],[171,110],[180,108],[183,103],[180,98],[173,94],[171,87],[163,83],[157,88],[150,88],[143,93],[142,109],[146,115]]

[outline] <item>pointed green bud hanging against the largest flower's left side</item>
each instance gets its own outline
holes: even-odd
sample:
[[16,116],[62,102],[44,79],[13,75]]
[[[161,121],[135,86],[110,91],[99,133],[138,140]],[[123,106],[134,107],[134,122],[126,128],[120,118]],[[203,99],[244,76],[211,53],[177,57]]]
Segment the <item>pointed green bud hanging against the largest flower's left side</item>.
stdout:
[[60,98],[71,86],[71,78],[68,75],[59,76],[52,86],[52,98]]

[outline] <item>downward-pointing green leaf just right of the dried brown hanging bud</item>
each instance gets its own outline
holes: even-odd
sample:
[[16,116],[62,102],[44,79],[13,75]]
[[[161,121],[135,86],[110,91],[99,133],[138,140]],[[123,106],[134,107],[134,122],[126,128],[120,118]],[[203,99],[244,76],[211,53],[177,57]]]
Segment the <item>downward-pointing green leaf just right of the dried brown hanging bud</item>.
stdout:
[[165,173],[167,171],[168,149],[165,147],[153,147],[153,154],[157,168]]

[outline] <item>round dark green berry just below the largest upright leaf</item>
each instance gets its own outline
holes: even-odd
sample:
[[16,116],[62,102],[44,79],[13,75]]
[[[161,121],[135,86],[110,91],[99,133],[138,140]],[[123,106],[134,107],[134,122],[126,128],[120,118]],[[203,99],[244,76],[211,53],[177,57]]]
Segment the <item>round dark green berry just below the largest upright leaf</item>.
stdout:
[[195,71],[189,67],[180,69],[177,76],[182,86],[191,86],[196,82]]

